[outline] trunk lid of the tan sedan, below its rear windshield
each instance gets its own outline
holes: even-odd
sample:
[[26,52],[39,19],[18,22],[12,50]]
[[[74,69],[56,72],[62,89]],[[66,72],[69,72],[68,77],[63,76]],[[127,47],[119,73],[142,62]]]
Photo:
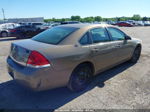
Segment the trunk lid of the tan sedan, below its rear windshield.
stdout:
[[11,45],[10,57],[16,63],[27,66],[28,57],[32,51],[39,51],[44,55],[44,49],[54,47],[55,45],[45,44],[31,39],[17,41]]

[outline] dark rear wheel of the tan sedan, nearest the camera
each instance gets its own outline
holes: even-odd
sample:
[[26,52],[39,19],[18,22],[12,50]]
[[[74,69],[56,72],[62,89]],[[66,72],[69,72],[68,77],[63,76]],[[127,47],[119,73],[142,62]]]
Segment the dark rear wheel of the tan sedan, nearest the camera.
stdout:
[[71,74],[68,88],[75,92],[84,90],[91,82],[92,75],[93,71],[91,66],[88,64],[79,65]]

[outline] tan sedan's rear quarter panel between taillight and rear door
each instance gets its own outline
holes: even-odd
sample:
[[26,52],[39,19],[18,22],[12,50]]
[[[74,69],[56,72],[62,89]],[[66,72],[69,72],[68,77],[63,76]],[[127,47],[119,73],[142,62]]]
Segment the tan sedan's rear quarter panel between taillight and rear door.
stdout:
[[56,70],[74,69],[78,64],[90,59],[89,46],[63,45],[45,49],[44,54]]

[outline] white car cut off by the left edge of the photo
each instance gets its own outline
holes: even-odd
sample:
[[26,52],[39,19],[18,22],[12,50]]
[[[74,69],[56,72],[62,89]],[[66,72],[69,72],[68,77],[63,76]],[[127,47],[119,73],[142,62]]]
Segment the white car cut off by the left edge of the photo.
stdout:
[[9,36],[9,29],[15,28],[20,26],[16,23],[4,23],[0,24],[0,37],[8,37]]

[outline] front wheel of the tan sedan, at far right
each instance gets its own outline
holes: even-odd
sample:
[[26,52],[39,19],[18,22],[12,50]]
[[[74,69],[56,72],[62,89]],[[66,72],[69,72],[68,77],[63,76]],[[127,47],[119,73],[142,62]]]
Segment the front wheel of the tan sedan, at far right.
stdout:
[[132,58],[130,59],[130,62],[131,63],[137,63],[137,61],[140,58],[140,55],[141,55],[141,47],[138,46],[135,48],[133,55],[132,55]]

